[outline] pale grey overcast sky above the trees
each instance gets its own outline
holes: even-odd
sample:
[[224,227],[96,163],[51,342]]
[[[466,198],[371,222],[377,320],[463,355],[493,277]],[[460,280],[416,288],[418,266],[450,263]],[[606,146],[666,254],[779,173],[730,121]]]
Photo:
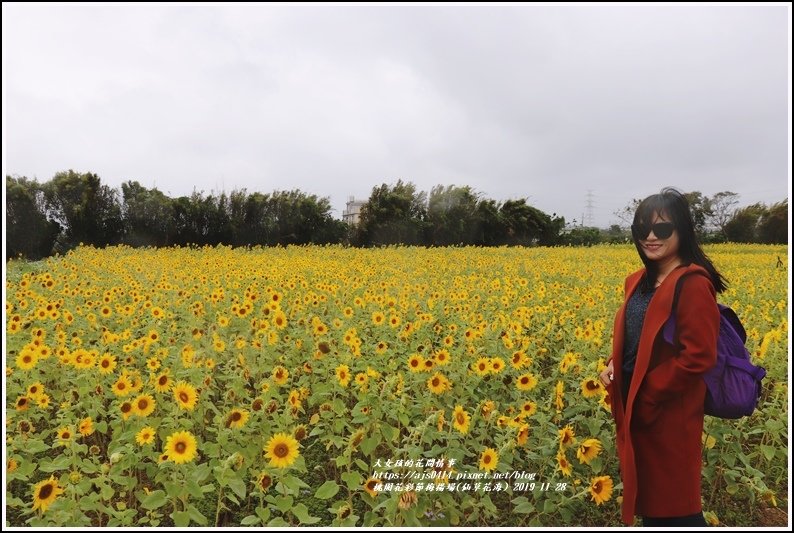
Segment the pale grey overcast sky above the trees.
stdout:
[[[791,8],[4,3],[3,167],[177,197],[787,198]],[[588,191],[592,196],[588,199]]]

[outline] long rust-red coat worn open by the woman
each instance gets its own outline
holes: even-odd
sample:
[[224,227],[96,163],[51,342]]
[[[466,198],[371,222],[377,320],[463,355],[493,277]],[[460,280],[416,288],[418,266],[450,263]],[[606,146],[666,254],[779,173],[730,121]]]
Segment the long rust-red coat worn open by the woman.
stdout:
[[623,305],[615,317],[609,386],[615,418],[617,452],[623,478],[623,521],[634,515],[685,516],[701,511],[703,448],[702,375],[717,361],[719,309],[710,278],[697,274],[682,280],[677,313],[679,348],[662,339],[675,285],[682,274],[702,270],[689,265],[671,272],[656,289],[642,326],[637,360],[623,404],[625,310],[645,269],[626,278]]

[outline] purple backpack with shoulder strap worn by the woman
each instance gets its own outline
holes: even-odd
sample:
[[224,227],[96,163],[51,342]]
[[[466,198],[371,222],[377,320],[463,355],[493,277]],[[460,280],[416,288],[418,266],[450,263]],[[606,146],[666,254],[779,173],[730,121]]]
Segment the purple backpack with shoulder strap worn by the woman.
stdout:
[[[679,279],[680,282],[680,279]],[[680,283],[673,297],[673,311],[664,324],[662,336],[675,342],[675,308]],[[705,413],[719,418],[741,418],[753,414],[761,397],[761,380],[766,369],[750,362],[745,348],[747,332],[736,312],[728,306],[720,308],[720,332],[717,337],[717,364],[703,375],[706,382]]]

